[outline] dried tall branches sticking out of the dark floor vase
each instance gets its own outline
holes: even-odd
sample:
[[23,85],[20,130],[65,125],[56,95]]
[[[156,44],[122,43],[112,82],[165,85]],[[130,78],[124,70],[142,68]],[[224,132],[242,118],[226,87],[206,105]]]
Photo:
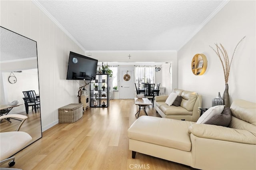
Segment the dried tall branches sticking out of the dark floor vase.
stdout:
[[[228,83],[228,77],[229,77],[229,73],[230,73],[230,67],[231,67],[231,64],[232,64],[232,61],[233,61],[233,57],[234,57],[234,54],[236,52],[236,48],[238,47],[238,45],[244,40],[246,36],[244,36],[236,45],[235,49],[234,49],[234,52],[233,52],[233,55],[231,57],[231,59],[229,59],[228,57],[228,53],[226,51],[226,49],[223,47],[223,45],[220,43],[220,46],[215,43],[216,45],[216,49],[214,49],[212,46],[210,46],[213,51],[218,55],[219,59],[220,59],[220,62],[222,64],[222,68],[223,68],[223,71],[224,71],[224,78],[225,78],[225,84]],[[222,54],[222,56],[220,55],[220,53]]]

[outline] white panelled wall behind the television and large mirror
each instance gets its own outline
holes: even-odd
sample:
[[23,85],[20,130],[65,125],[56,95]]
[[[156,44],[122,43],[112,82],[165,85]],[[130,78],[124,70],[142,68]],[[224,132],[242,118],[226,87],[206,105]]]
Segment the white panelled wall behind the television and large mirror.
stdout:
[[0,25],[37,42],[43,131],[58,123],[58,108],[78,103],[76,81],[66,80],[70,51],[84,54],[31,1],[0,1]]

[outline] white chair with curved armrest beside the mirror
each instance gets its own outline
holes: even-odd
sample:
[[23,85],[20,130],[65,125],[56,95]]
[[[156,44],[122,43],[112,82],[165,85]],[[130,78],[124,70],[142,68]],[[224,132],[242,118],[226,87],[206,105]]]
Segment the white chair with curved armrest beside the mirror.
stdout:
[[10,114],[1,116],[0,120],[9,118],[21,119],[21,122],[16,131],[0,133],[0,165],[9,162],[9,166],[14,166],[15,156],[13,155],[27,146],[28,142],[32,140],[32,137],[26,132],[19,131],[21,125],[28,118],[27,116]]

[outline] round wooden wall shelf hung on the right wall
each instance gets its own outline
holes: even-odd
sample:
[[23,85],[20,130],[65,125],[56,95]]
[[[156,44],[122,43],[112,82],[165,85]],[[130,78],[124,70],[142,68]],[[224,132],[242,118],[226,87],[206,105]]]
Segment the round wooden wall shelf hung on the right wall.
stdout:
[[207,59],[204,54],[194,55],[191,62],[191,70],[194,75],[203,75],[207,68]]

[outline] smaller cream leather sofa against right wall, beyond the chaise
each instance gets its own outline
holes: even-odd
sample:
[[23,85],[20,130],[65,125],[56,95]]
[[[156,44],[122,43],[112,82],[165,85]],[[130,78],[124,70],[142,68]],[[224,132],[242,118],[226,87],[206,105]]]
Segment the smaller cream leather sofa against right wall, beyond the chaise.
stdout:
[[154,106],[159,115],[164,118],[196,122],[200,117],[198,107],[202,106],[202,95],[182,89],[174,89],[173,92],[182,96],[180,106],[167,105],[165,101],[168,96],[155,96]]

